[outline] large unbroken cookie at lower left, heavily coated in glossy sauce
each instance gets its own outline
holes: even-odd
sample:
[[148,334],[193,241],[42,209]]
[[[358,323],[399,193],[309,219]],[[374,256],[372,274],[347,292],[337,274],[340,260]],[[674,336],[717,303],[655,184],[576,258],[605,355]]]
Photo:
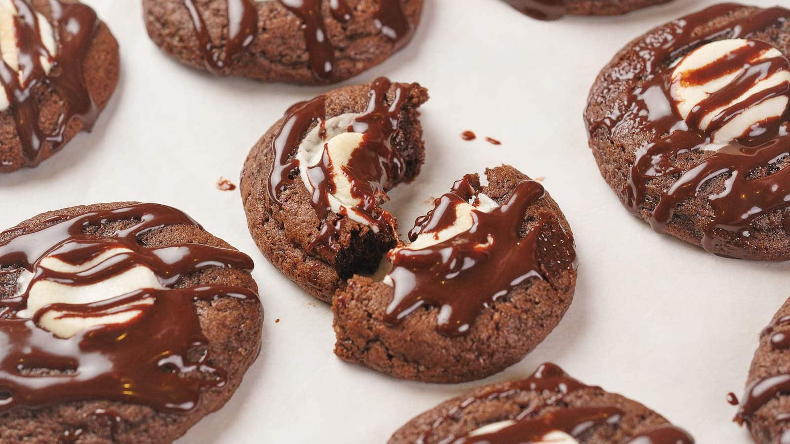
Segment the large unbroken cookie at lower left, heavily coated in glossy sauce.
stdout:
[[183,435],[258,356],[252,267],[164,205],[61,209],[0,233],[0,441]]

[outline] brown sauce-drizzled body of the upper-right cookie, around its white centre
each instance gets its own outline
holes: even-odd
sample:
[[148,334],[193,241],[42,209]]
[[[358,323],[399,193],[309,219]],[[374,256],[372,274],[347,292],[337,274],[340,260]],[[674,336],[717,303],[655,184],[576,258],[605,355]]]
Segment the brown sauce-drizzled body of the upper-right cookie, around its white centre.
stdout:
[[[784,198],[790,162],[782,154],[790,138],[783,135],[784,126],[771,120],[765,133],[754,130],[754,136],[705,149],[705,137],[713,140],[711,132],[687,123],[690,117],[684,121],[668,96],[676,63],[706,43],[758,40],[786,58],[787,17],[790,10],[781,7],[711,6],[638,37],[615,55],[592,85],[585,122],[600,173],[623,204],[656,231],[726,257],[790,258],[790,211]],[[770,62],[778,67],[786,63],[784,58]],[[747,75],[751,73],[739,78],[749,81]],[[739,86],[735,81],[730,85],[722,94]],[[720,96],[714,94],[711,100]],[[735,112],[722,116],[732,119],[744,109],[728,109]],[[754,128],[763,130],[761,125]]]

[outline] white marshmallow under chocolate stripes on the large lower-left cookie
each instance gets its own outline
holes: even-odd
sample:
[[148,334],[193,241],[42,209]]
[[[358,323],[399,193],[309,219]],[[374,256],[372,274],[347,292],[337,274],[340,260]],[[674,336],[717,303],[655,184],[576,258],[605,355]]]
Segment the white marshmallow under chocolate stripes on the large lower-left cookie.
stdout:
[[[119,254],[130,253],[126,248],[114,248],[104,251],[91,261],[72,265],[53,257],[45,257],[39,262],[39,266],[62,273],[81,273],[89,272],[91,269],[100,269],[103,266],[111,265],[119,258]],[[108,277],[105,280],[88,285],[67,285],[60,284],[51,280],[36,280],[29,288],[28,307],[19,312],[22,318],[32,318],[36,313],[44,309],[43,315],[39,319],[39,324],[58,337],[73,337],[85,329],[96,325],[109,325],[115,323],[129,322],[142,313],[142,310],[134,310],[134,307],[152,305],[153,298],[137,299],[134,303],[126,304],[130,310],[107,315],[87,315],[68,317],[68,310],[47,310],[47,305],[53,303],[68,304],[89,304],[111,299],[116,296],[135,292],[141,288],[164,289],[159,279],[151,269],[137,265],[124,273]],[[66,315],[64,317],[64,315]]]

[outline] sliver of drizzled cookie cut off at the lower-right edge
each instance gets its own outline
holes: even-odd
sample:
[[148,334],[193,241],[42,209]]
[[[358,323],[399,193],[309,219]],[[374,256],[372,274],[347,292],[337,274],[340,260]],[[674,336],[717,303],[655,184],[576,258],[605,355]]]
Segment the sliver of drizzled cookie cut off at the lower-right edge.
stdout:
[[746,423],[754,442],[790,440],[790,299],[760,333],[746,393],[735,420]]

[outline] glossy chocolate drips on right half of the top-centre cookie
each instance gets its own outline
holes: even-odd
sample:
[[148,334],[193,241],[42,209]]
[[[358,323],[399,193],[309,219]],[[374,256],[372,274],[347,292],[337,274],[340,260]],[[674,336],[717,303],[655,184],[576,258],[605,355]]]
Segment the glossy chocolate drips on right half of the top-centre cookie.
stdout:
[[[304,40],[310,55],[310,69],[316,78],[328,80],[335,69],[335,47],[326,32],[323,0],[280,0],[280,3],[303,21]],[[342,23],[352,21],[352,9],[346,0],[329,2],[332,17]],[[379,0],[373,23],[382,35],[388,37],[400,49],[412,35],[412,24],[401,6],[401,0]]]

